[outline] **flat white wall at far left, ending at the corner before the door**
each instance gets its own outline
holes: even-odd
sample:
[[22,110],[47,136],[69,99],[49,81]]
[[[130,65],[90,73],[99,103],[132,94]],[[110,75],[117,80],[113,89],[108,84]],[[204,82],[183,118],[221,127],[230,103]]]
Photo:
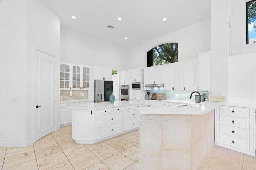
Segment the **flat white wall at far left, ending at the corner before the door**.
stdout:
[[0,21],[0,133],[4,133],[0,146],[4,146],[26,142],[26,0],[1,1]]

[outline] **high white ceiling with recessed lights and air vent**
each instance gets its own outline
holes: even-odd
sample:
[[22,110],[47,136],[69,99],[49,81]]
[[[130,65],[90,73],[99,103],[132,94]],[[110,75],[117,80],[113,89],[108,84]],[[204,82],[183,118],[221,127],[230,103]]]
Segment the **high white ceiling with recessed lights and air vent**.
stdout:
[[62,28],[127,48],[210,18],[210,0],[42,1],[60,17]]

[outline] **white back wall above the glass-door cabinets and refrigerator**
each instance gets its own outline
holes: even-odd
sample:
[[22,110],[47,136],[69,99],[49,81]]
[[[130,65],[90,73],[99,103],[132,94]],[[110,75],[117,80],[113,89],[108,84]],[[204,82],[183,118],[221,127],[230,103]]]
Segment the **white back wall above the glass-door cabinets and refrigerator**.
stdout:
[[127,49],[61,28],[60,61],[100,65],[120,70],[126,65]]

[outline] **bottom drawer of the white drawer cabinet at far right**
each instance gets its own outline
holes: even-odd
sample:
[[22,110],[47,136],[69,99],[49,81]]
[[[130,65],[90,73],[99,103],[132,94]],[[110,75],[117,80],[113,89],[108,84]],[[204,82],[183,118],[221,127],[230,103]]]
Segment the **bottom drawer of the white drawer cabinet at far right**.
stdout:
[[239,139],[224,134],[220,134],[220,142],[237,148],[249,150],[249,140]]

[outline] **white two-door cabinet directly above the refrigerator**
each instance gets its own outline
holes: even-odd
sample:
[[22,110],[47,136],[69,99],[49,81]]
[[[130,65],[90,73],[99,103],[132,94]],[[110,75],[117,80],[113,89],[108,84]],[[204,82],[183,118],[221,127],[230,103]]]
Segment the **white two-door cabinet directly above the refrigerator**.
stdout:
[[112,81],[112,69],[108,67],[94,66],[94,80]]

